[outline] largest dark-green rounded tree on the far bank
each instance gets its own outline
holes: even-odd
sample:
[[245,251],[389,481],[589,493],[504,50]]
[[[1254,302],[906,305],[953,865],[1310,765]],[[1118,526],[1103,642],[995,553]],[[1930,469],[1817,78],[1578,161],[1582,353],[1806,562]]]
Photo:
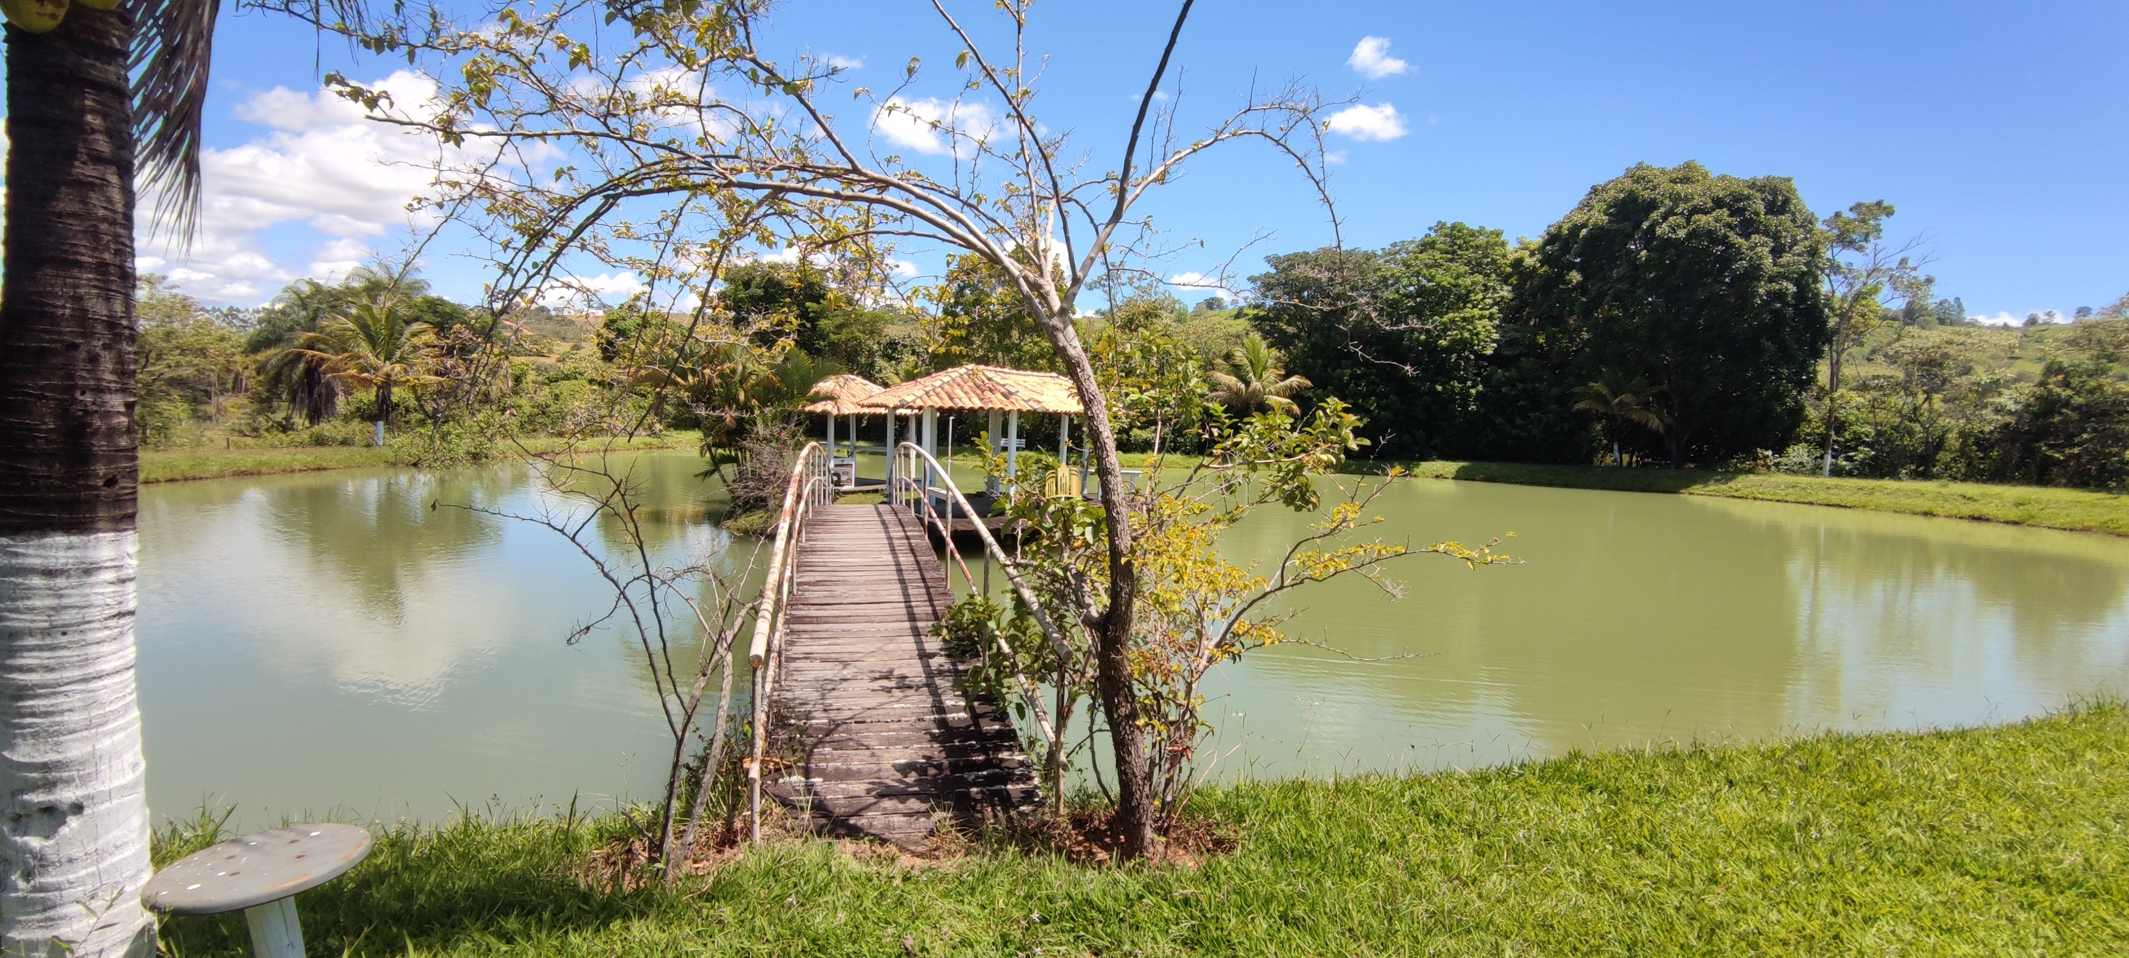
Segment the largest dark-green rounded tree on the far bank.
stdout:
[[1639,164],[1546,230],[1526,309],[1582,381],[1658,390],[1673,466],[1784,449],[1827,345],[1825,238],[1784,177]]

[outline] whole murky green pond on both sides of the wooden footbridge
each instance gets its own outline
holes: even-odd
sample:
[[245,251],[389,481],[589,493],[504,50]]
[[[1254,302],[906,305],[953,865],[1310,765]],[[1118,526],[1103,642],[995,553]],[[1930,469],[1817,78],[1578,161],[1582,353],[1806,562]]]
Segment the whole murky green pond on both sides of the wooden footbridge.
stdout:
[[[664,556],[705,522],[686,453],[634,460]],[[1350,479],[1348,479],[1350,481]],[[973,479],[964,479],[973,485]],[[647,798],[664,722],[524,466],[149,485],[141,709],[158,817],[449,815]],[[2129,690],[2129,541],[1957,519],[1414,481],[1392,539],[1516,532],[1516,566],[1322,585],[1224,666],[1216,775],[1473,766],[1575,747],[2008,722]],[[1271,556],[1303,517],[1237,528]],[[594,536],[600,534],[594,528]],[[611,543],[611,530],[607,530]]]

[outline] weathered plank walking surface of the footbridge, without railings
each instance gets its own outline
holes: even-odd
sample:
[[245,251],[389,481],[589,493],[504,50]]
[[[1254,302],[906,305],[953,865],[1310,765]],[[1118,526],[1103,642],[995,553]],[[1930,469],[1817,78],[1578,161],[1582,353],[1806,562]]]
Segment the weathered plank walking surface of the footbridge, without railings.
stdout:
[[922,519],[824,505],[798,543],[764,792],[818,828],[901,845],[1035,800],[1020,737],[967,700],[933,624],[954,602]]

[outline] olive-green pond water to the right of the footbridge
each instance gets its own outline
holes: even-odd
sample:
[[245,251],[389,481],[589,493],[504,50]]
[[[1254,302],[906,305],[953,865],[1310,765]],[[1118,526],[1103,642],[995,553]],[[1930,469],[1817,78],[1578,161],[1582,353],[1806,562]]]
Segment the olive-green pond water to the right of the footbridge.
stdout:
[[[1925,728],[2129,690],[2129,543],[1769,502],[1424,481],[1390,536],[1520,532],[1522,566],[1414,558],[1388,602],[1331,583],[1294,628],[1356,658],[1231,668],[1228,769],[1478,764],[1573,747]],[[1271,556],[1301,517],[1231,547]]]

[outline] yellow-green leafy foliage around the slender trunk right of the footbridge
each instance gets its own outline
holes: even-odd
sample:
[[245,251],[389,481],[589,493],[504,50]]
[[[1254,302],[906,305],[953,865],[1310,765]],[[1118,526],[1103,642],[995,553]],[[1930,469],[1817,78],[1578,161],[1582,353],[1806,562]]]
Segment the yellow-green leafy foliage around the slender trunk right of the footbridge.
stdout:
[[[1137,773],[1152,790],[1156,830],[1175,822],[1209,771],[1199,760],[1199,745],[1211,730],[1201,692],[1207,673],[1250,649],[1290,641],[1282,626],[1292,611],[1280,605],[1282,596],[1360,575],[1397,598],[1403,588],[1386,577],[1384,566],[1403,556],[1437,554],[1471,566],[1512,562],[1492,551],[1499,541],[1473,549],[1463,543],[1365,539],[1382,522],[1369,511],[1375,498],[1407,477],[1392,470],[1375,481],[1339,481],[1335,498],[1324,502],[1322,475],[1365,443],[1354,436],[1356,426],[1358,419],[1335,398],[1322,400],[1307,419],[1269,409],[1218,428],[1214,449],[1196,466],[1169,473],[1152,468],[1143,492],[1128,498],[1143,590],[1130,668],[1148,749],[1139,758],[1113,758],[1120,777],[1133,773],[1124,762],[1143,762]],[[996,473],[1005,464],[992,460],[990,468]],[[1107,575],[1101,562],[1107,515],[1088,509],[1079,496],[1045,492],[1058,488],[1043,481],[1041,468],[1022,479],[1007,513],[1039,534],[1024,539],[1026,554],[1018,568],[1045,607],[1073,607],[1075,594],[1101,590]],[[1309,534],[1271,562],[1239,564],[1226,558],[1220,549],[1222,534],[1271,505],[1314,513]],[[1077,751],[1064,734],[1077,703],[1099,698],[1092,656],[1079,651],[1092,649],[1088,626],[1056,622],[1054,628],[1064,632],[1058,641],[1060,637],[1037,626],[1026,607],[1005,613],[981,596],[956,607],[947,624],[979,634],[981,641],[967,645],[986,654],[977,681],[999,692],[1001,700],[1011,700],[1007,692],[1013,673],[1039,677],[1056,690],[1058,703],[1047,715],[1052,737],[1037,745],[1054,798],[1062,803],[1064,766]],[[990,654],[996,641],[1007,645],[1005,654]]]

